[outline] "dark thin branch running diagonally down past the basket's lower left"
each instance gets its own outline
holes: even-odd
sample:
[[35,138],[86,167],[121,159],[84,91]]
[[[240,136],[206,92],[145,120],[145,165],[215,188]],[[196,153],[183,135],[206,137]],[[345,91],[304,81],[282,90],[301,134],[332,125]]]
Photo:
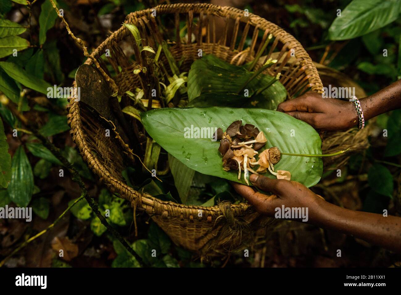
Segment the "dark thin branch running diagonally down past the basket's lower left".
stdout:
[[121,242],[121,244],[123,244],[123,246],[128,250],[128,252],[130,252],[132,254],[132,256],[135,257],[135,259],[138,261],[139,265],[141,267],[143,267],[144,262],[142,261],[142,258],[134,251],[134,249],[132,249],[132,247],[130,247],[130,245],[128,245],[128,243],[126,242],[126,240],[124,240],[124,238],[121,236],[121,234],[119,234],[119,232],[117,232],[117,230],[115,230],[113,227],[111,227],[111,225],[107,222],[107,220],[103,217],[103,215],[100,214],[100,212],[98,210],[97,202],[88,195],[88,192],[85,187],[85,183],[83,182],[81,176],[79,176],[79,172],[75,169],[74,165],[71,164],[70,162],[68,162],[68,160],[63,155],[61,155],[60,150],[55,145],[53,145],[53,143],[51,143],[49,141],[49,139],[47,139],[46,137],[41,135],[41,133],[38,132],[38,125],[36,124],[36,122],[32,122],[32,121],[29,121],[28,119],[26,119],[26,117],[24,117],[14,107],[14,105],[12,105],[10,100],[7,99],[7,101],[6,101],[6,99],[3,99],[2,103],[4,105],[6,105],[18,119],[20,119],[21,121],[23,121],[23,119],[24,119],[23,122],[24,122],[24,125],[26,126],[26,129],[31,131],[36,136],[36,138],[38,138],[40,141],[42,141],[43,145],[45,147],[47,147],[51,151],[51,153],[57,159],[59,159],[59,161],[67,169],[70,170],[71,174],[73,174],[72,179],[75,182],[77,182],[79,187],[81,188],[81,195],[83,195],[85,197],[89,206],[92,208],[93,212],[95,212],[96,216],[100,219],[100,222],[111,232],[111,234],[113,234],[113,236],[115,238],[117,238],[117,240],[119,240]]

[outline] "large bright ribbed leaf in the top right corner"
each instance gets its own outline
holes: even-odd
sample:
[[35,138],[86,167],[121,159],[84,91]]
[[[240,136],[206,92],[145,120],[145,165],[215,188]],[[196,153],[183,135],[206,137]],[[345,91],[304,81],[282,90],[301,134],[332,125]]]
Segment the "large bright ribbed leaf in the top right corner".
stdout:
[[399,0],[353,0],[329,28],[330,40],[346,40],[373,32],[396,20]]

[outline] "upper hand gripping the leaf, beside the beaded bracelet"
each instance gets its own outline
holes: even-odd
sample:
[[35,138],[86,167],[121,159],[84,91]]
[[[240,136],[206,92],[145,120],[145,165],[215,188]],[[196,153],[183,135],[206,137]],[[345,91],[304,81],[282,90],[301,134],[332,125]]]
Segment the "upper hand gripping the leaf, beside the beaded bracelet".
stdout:
[[358,113],[353,103],[334,98],[322,98],[316,92],[284,101],[277,111],[305,121],[315,129],[341,130],[355,126],[358,123]]

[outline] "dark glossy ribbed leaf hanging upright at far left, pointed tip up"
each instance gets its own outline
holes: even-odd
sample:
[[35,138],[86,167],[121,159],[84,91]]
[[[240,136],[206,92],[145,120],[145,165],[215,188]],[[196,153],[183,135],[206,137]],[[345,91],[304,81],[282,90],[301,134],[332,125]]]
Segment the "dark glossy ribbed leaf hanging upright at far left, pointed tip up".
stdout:
[[33,193],[33,173],[24,147],[20,145],[11,162],[11,181],[8,184],[10,199],[20,207],[28,206]]

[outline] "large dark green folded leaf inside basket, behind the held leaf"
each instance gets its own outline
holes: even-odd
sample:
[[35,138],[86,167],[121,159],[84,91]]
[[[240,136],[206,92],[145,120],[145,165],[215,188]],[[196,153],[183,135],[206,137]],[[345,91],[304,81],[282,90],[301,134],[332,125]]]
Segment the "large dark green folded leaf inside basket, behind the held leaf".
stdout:
[[188,73],[189,105],[252,107],[251,102],[257,101],[256,107],[276,109],[287,96],[286,89],[279,81],[259,95],[253,95],[257,89],[275,79],[270,75],[260,74],[250,81],[245,87],[249,90],[248,97],[245,97],[244,93],[236,94],[254,73],[244,67],[231,65],[214,55],[205,55],[192,63]]

